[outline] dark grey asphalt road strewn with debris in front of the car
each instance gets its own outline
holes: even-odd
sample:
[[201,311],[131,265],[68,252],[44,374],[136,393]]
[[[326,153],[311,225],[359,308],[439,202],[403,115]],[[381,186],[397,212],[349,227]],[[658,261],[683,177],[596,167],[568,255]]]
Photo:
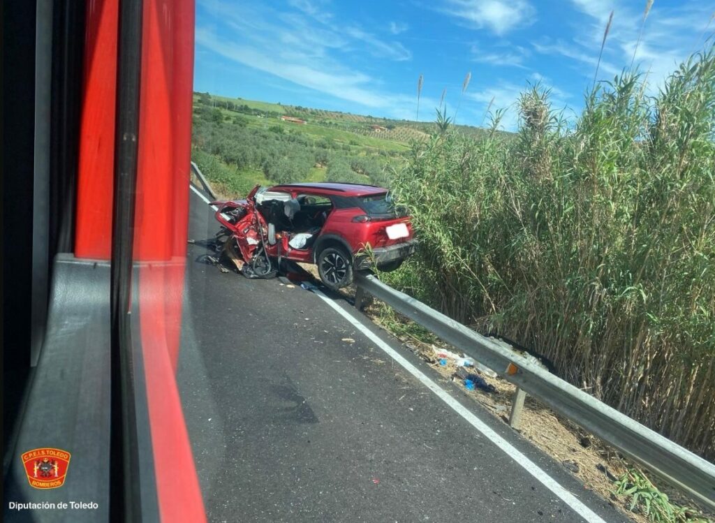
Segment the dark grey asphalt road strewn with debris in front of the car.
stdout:
[[[189,238],[212,238],[192,192]],[[212,522],[579,522],[320,296],[201,262],[189,245],[178,381]],[[593,511],[624,517],[400,343],[349,311]],[[342,338],[352,338],[347,343]]]

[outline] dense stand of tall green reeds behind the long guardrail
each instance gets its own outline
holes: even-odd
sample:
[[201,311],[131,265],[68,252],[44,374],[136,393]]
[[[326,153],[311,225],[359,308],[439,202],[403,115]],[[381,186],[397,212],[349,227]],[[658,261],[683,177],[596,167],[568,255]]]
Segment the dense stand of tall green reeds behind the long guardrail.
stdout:
[[514,140],[415,142],[393,183],[420,248],[386,278],[713,459],[713,50],[642,82],[597,87],[575,127],[537,87]]

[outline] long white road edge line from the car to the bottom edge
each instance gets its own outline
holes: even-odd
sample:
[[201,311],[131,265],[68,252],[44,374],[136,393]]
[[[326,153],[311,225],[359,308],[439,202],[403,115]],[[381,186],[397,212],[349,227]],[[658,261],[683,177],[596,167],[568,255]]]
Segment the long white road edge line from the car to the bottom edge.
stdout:
[[335,309],[335,311],[340,314],[340,316],[352,323],[352,326],[357,328],[358,331],[362,332],[363,334],[365,334],[365,336],[370,338],[370,341],[372,341],[373,343],[375,343],[375,345],[383,349],[383,351],[385,351],[385,353],[387,353],[390,358],[393,358],[393,360],[400,363],[400,365],[403,366],[406,371],[415,376],[415,378],[417,378],[421,383],[423,383],[424,386],[429,388],[430,391],[433,391],[435,394],[437,394],[437,396],[442,401],[444,401],[445,404],[448,404],[457,414],[467,420],[471,426],[473,426],[475,429],[487,436],[488,439],[490,439],[496,446],[498,446],[508,456],[510,456],[511,459],[516,461],[519,465],[523,466],[523,468],[526,469],[529,474],[538,479],[539,482],[543,483],[547,489],[551,490],[551,492],[563,499],[563,502],[566,502],[569,507],[571,507],[575,512],[577,512],[581,517],[583,517],[583,519],[585,519],[588,523],[606,523],[603,521],[603,519],[601,519],[600,516],[598,516],[598,514],[593,512],[593,510],[589,509],[588,507],[586,507],[585,504],[576,499],[576,496],[561,487],[561,485],[558,484],[555,479],[546,474],[546,472],[540,469],[533,461],[531,461],[531,459],[528,459],[526,456],[521,454],[521,452],[515,449],[508,441],[506,441],[506,439],[503,439],[503,437],[499,436],[499,434],[490,429],[483,421],[481,421],[477,416],[475,416],[468,409],[466,409],[465,406],[463,406],[452,396],[447,394],[447,392],[443,388],[438,386],[434,381],[430,380],[430,378],[425,376],[422,371],[420,371],[412,363],[403,358],[403,356],[400,356],[400,354],[392,347],[390,347],[387,343],[378,338],[378,336],[376,336],[375,333],[370,331],[370,329],[365,327],[363,323],[360,323],[360,321],[356,320],[355,317],[353,317],[350,313],[345,311],[345,309],[337,305],[337,303],[328,298],[325,294],[321,293],[320,290],[313,289],[312,291],[313,293],[320,296],[320,298],[325,301],[325,303],[327,303],[330,307]]

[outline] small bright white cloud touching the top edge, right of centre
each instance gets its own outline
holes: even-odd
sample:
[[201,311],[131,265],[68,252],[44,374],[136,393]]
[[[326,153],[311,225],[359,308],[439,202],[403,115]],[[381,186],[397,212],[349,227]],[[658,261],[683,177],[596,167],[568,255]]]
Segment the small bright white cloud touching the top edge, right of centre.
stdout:
[[468,27],[486,27],[496,34],[533,24],[536,18],[536,9],[527,0],[446,0],[437,9]]

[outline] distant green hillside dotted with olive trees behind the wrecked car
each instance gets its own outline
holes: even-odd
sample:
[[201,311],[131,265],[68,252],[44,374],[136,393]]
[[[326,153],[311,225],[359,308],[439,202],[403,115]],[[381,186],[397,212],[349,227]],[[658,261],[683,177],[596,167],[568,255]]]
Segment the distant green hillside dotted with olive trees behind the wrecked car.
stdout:
[[[345,181],[389,185],[414,142],[432,122],[350,114],[194,93],[194,161],[227,196],[255,184]],[[291,122],[282,117],[302,120]],[[483,129],[459,125],[464,135]]]

